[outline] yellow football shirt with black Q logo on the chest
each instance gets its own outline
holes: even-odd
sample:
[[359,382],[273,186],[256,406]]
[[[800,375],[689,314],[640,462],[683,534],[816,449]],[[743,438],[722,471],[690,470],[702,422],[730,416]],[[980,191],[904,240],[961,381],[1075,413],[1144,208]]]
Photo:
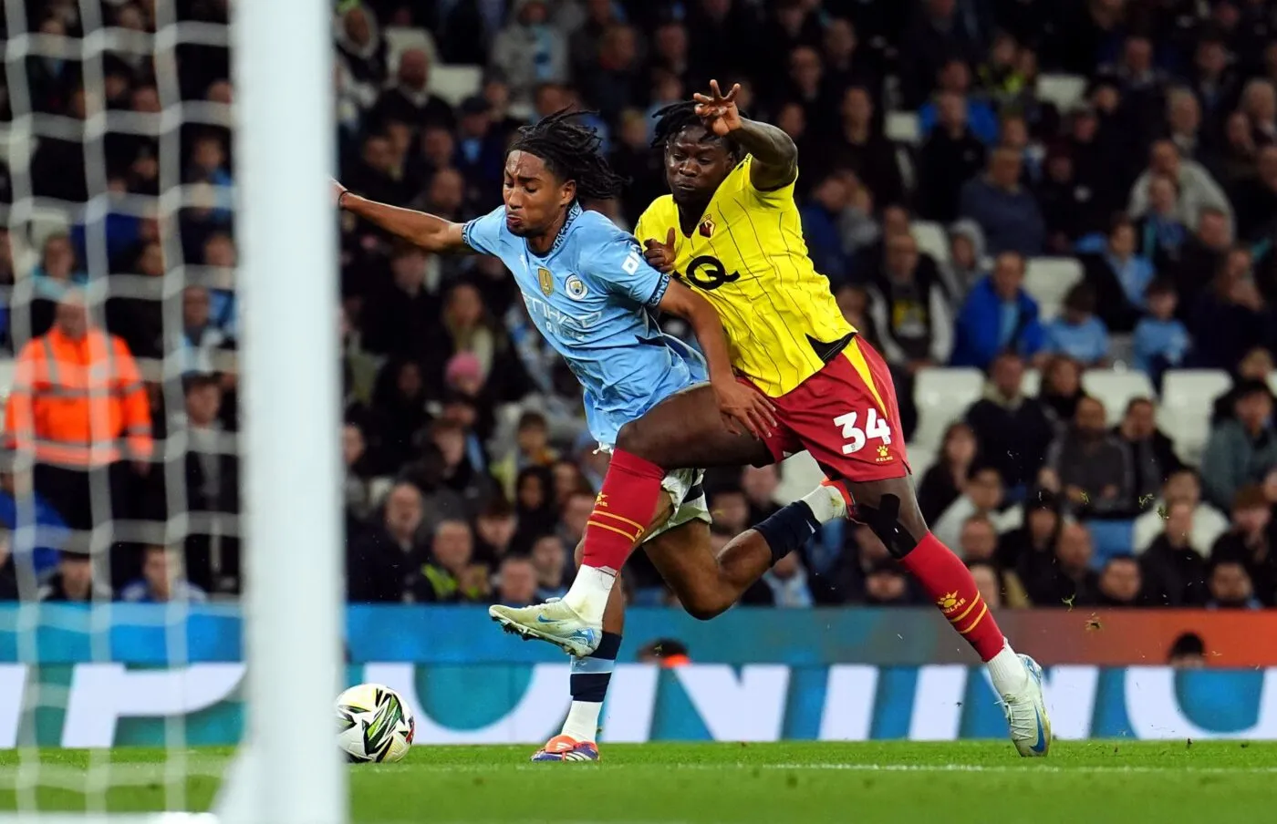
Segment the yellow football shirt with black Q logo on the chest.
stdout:
[[664,195],[638,218],[635,237],[665,242],[673,227],[676,277],[714,305],[736,370],[778,398],[820,371],[820,352],[854,329],[807,256],[793,184],[759,191],[751,162],[732,170],[691,236]]

